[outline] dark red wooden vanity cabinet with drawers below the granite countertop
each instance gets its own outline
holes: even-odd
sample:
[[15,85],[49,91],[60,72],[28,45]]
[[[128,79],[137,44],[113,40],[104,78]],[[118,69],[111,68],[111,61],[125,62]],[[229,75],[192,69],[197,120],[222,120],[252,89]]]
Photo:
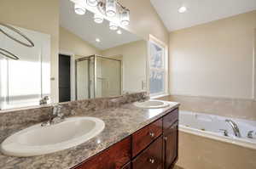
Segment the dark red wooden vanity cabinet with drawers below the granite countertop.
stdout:
[[177,161],[178,109],[73,169],[169,169]]

